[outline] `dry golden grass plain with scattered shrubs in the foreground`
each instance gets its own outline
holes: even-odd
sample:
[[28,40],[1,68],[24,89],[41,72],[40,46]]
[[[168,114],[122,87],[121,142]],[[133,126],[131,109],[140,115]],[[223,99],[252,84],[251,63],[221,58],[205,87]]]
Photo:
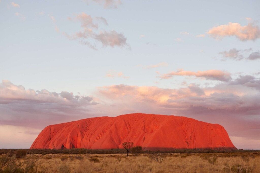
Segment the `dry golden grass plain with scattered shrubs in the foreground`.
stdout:
[[[133,148],[132,148],[133,149]],[[17,151],[17,150],[16,150]],[[142,151],[145,152],[145,151]],[[260,152],[0,155],[0,173],[260,172]]]

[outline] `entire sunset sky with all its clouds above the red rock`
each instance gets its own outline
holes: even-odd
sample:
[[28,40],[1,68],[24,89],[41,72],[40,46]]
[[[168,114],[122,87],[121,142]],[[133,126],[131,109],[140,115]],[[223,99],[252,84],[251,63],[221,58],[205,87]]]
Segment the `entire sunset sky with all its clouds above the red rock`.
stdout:
[[0,148],[141,112],[218,123],[260,149],[259,22],[256,0],[0,0]]

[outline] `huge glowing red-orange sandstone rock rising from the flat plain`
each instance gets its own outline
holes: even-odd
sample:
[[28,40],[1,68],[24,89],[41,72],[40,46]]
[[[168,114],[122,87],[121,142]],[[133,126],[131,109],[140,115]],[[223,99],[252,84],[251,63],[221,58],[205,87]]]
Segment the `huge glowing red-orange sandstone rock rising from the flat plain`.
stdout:
[[31,149],[112,149],[122,148],[124,142],[133,142],[144,150],[236,149],[219,124],[141,113],[50,125],[38,135]]

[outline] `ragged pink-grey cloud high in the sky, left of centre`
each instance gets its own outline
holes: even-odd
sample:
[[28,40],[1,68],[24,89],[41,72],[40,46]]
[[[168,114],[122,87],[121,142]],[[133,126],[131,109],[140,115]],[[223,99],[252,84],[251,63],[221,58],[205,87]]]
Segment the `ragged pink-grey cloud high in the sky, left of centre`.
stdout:
[[76,15],[74,18],[68,18],[70,21],[79,21],[81,23],[82,30],[74,34],[63,33],[70,40],[78,40],[83,45],[88,45],[90,48],[97,50],[93,41],[101,43],[104,47],[131,47],[127,44],[127,38],[122,34],[118,33],[115,30],[112,31],[99,31],[98,22],[102,22],[107,25],[107,20],[103,17],[92,18],[90,15],[82,12],[81,14]]

